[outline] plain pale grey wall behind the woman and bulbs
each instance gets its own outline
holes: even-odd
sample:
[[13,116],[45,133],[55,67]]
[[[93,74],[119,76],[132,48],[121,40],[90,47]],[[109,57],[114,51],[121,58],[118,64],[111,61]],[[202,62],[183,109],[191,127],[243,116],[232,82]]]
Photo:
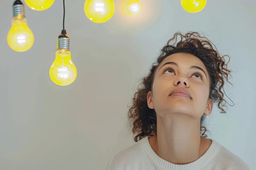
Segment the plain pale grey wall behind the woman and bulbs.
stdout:
[[84,0],[66,0],[65,29],[78,72],[69,86],[49,78],[63,1],[34,11],[22,0],[35,38],[23,53],[12,51],[6,40],[13,2],[0,1],[1,169],[106,169],[112,155],[135,144],[128,106],[139,79],[176,31],[198,31],[230,56],[227,113],[214,105],[206,134],[256,169],[256,1],[209,0],[199,13],[188,13],[180,0],[141,0],[143,11],[130,17],[123,12],[126,0],[115,0],[115,15],[97,24],[86,18]]

